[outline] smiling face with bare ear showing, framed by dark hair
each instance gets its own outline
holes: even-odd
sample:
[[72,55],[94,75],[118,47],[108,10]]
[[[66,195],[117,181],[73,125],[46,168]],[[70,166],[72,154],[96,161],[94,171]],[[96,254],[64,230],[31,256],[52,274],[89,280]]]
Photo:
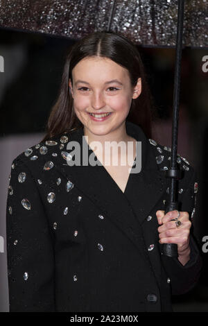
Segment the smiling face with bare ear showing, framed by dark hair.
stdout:
[[[117,130],[121,136],[132,98],[141,93],[141,78],[132,87],[127,69],[98,56],[80,60],[72,70],[72,78],[73,88],[71,79],[69,87],[73,108],[85,135],[108,135]],[[110,114],[102,117],[101,113]]]

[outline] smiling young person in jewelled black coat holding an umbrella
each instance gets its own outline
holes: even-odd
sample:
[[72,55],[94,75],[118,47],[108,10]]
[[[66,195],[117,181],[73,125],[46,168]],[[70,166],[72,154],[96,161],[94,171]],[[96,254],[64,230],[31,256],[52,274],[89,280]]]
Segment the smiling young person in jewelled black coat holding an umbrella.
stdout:
[[171,294],[196,284],[196,173],[177,155],[180,212],[164,214],[171,153],[150,122],[132,42],[96,32],[72,46],[46,136],[12,162],[10,311],[172,311]]

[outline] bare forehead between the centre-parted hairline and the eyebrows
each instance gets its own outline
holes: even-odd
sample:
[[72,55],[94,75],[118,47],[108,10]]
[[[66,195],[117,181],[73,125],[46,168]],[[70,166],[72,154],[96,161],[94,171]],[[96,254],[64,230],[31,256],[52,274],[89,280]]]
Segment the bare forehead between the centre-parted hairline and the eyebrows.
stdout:
[[87,57],[80,60],[72,69],[73,79],[85,80],[100,80],[105,82],[110,79],[125,80],[128,76],[128,70],[118,65],[109,58],[102,57]]

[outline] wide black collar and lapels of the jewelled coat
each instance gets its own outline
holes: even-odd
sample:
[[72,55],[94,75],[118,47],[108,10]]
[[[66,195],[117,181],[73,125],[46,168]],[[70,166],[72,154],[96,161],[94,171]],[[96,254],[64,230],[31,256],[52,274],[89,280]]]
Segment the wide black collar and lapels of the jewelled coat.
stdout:
[[[159,171],[157,166],[155,146],[150,144],[141,128],[127,121],[126,131],[128,135],[141,141],[141,172],[130,173],[124,193],[102,164],[69,166],[62,155],[59,155],[55,167],[65,175],[67,180],[73,182],[80,194],[87,196],[100,209],[103,216],[110,218],[135,243],[142,255],[145,255],[144,248],[141,249],[141,223],[166,190],[167,180],[164,178],[164,171]],[[68,137],[68,141],[78,141],[81,148],[84,139],[89,155],[93,155],[96,159],[96,155],[83,137],[82,127],[64,135]],[[81,162],[82,159],[83,155],[81,155]],[[130,205],[130,196],[134,196],[137,200],[137,214]]]

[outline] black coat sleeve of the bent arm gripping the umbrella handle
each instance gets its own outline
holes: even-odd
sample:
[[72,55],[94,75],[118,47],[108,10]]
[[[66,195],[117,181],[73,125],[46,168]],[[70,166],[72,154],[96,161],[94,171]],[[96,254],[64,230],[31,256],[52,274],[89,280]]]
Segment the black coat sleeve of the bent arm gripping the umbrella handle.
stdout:
[[[187,190],[184,192],[182,203],[179,206],[181,212],[188,212],[189,219],[191,221],[191,215],[193,216],[196,210],[196,189],[194,191],[194,184],[197,181],[196,171],[193,171],[191,181]],[[194,209],[194,210],[193,210]],[[161,245],[162,246],[162,245]],[[200,271],[202,268],[202,257],[198,241],[193,234],[193,223],[190,229],[189,246],[191,248],[190,259],[184,266],[177,258],[167,257],[162,255],[162,263],[168,277],[171,279],[171,289],[173,295],[179,295],[187,293],[194,286],[196,286],[200,277]]]

